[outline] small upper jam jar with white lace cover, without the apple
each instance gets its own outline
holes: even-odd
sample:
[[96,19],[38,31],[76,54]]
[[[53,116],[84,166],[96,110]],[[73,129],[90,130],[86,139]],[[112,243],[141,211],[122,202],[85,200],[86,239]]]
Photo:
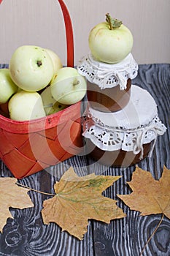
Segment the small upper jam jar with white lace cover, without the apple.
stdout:
[[131,80],[138,65],[131,53],[117,64],[96,61],[91,54],[77,67],[88,81],[87,98],[91,108],[102,112],[122,110],[131,98]]

